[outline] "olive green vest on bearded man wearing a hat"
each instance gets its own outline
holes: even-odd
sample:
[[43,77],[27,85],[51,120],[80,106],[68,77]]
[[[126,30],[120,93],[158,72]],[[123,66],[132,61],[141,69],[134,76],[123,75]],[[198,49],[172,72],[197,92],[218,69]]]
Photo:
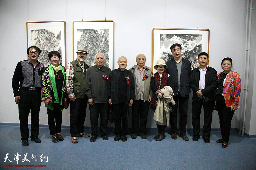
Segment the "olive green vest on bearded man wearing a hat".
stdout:
[[85,74],[89,67],[84,63],[84,72],[77,60],[70,62],[74,67],[73,91],[76,98],[84,99],[85,95]]

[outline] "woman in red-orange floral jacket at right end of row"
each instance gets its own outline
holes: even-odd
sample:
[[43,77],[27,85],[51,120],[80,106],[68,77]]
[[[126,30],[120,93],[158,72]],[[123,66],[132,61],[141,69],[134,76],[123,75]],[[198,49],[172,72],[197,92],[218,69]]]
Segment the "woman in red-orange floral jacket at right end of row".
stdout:
[[216,105],[220,118],[220,132],[222,139],[217,143],[222,143],[222,147],[228,146],[231,129],[231,120],[234,112],[239,108],[239,96],[241,92],[240,75],[231,70],[232,59],[224,58],[221,62],[223,72],[218,74],[218,85],[216,90]]

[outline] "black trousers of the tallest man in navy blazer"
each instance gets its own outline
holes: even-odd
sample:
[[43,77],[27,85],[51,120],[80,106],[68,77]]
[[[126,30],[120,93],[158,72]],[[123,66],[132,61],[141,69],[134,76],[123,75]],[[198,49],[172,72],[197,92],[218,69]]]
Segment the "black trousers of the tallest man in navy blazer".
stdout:
[[172,112],[170,113],[170,124],[172,133],[177,133],[177,109],[180,102],[180,135],[186,134],[186,126],[188,119],[188,97],[181,97],[180,94],[173,96],[175,105],[172,106]]

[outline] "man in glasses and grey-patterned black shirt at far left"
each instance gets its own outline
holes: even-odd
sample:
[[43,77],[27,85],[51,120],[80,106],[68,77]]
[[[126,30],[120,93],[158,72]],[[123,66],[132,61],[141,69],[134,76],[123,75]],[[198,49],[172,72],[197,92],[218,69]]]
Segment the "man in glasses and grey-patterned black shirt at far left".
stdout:
[[31,140],[40,143],[39,111],[41,106],[42,73],[44,65],[39,63],[41,50],[36,46],[27,49],[28,59],[19,62],[12,77],[12,89],[19,107],[20,134],[23,146],[28,146],[28,115],[31,116]]

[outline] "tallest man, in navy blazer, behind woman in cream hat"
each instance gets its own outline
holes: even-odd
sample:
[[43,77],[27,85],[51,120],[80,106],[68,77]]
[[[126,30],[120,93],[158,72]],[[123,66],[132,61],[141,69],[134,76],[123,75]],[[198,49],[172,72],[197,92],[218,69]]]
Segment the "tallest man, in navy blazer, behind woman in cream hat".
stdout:
[[172,139],[177,139],[177,109],[180,102],[180,136],[183,140],[188,141],[186,135],[186,126],[188,118],[188,96],[190,93],[189,77],[191,74],[191,63],[181,57],[181,45],[172,44],[171,52],[173,58],[166,62],[168,74],[172,75],[173,99],[176,105],[172,106],[170,113],[170,124]]

